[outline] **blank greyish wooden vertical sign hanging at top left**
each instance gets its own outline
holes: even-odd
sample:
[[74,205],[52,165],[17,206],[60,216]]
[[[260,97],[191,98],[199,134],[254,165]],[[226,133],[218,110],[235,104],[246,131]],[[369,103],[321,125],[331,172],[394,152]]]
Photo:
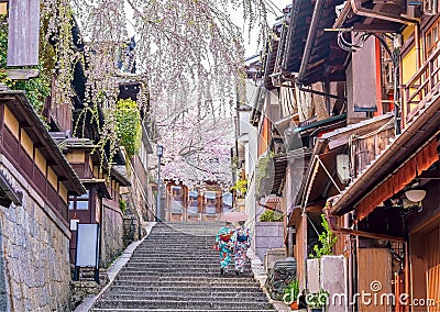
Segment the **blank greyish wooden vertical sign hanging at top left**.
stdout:
[[9,0],[8,66],[38,65],[40,0]]

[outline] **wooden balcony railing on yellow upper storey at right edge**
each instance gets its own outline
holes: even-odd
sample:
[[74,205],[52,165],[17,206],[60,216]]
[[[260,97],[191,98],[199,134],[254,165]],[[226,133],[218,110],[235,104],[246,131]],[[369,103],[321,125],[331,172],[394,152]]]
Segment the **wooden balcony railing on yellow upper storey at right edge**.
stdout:
[[404,85],[406,122],[413,121],[417,112],[440,87],[440,47],[424,63],[420,69]]

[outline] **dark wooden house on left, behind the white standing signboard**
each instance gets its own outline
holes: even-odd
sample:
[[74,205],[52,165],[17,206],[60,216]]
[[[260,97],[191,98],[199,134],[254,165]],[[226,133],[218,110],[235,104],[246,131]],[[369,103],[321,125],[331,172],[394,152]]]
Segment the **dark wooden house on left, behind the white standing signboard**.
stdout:
[[[79,27],[76,23],[72,33],[75,47],[79,52],[84,51],[85,44],[80,40]],[[86,194],[70,198],[68,215],[73,233],[70,261],[75,264],[77,224],[99,224],[99,266],[106,268],[127,245],[123,241],[124,215],[123,205],[121,209],[120,203],[120,192],[121,187],[130,186],[130,181],[117,170],[118,166],[125,165],[119,146],[113,153],[114,151],[110,152],[110,143],[107,143],[103,147],[105,153],[99,153],[96,145],[100,136],[95,116],[85,105],[87,97],[85,66],[81,62],[75,64],[72,86],[75,97],[72,98],[72,102],[56,103],[52,97],[45,102],[43,115],[50,125],[51,135],[56,140],[87,189]],[[55,79],[57,79],[56,74]],[[97,111],[100,123],[103,123],[101,108],[97,108]],[[113,154],[112,164],[109,164],[111,154]]]

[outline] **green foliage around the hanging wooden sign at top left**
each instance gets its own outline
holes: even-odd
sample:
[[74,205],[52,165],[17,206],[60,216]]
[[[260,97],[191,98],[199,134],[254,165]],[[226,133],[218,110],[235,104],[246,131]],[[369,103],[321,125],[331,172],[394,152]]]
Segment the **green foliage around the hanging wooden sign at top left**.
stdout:
[[[0,18],[1,20],[1,18]],[[25,97],[41,115],[44,101],[51,93],[51,78],[47,70],[44,69],[42,63],[36,67],[40,76],[30,80],[11,80],[7,76],[8,62],[8,24],[0,23],[0,82],[7,85],[11,90],[24,90]]]

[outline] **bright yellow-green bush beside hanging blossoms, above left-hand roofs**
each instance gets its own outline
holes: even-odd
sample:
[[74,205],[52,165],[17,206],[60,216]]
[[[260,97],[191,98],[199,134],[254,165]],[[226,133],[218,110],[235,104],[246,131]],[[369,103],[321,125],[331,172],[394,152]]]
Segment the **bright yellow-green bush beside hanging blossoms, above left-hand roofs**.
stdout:
[[116,120],[118,138],[131,158],[139,152],[142,135],[141,114],[136,102],[131,99],[119,100],[117,103]]

